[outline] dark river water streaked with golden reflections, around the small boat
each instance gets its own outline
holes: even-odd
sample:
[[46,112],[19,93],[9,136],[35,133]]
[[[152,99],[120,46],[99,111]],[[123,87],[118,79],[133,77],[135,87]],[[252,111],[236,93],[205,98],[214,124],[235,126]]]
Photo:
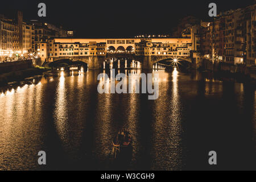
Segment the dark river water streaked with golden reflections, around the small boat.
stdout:
[[[0,169],[256,169],[255,85],[159,72],[159,98],[98,94],[99,71],[42,78],[0,95]],[[126,127],[133,152],[114,161]],[[46,151],[47,165],[38,165]],[[209,166],[208,152],[217,152]]]

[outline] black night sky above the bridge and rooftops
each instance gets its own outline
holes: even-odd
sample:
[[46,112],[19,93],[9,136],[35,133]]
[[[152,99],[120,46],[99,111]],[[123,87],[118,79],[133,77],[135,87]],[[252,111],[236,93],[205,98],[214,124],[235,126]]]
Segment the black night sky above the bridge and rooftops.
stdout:
[[24,19],[39,19],[40,2],[47,5],[47,17],[44,18],[47,22],[76,30],[80,37],[107,38],[169,33],[179,19],[186,15],[208,20],[210,2],[215,2],[220,12],[250,5],[254,0],[4,0],[1,2],[0,14],[13,16],[15,10],[19,9],[23,11]]

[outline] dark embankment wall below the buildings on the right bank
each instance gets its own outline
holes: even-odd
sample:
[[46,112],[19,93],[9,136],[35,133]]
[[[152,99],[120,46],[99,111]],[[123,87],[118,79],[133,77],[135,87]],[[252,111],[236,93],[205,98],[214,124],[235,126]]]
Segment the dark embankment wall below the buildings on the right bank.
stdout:
[[233,65],[229,63],[212,63],[209,60],[203,60],[203,69],[212,72],[225,72],[230,74],[236,74],[240,76],[250,77],[256,80],[256,68],[246,67],[244,64]]

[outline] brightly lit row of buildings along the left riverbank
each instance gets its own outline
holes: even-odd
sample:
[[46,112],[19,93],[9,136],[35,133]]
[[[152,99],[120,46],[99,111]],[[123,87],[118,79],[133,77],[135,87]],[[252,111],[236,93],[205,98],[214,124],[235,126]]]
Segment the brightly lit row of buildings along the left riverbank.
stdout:
[[[49,55],[48,40],[67,37],[67,31],[53,24],[37,20],[23,21],[23,14],[18,11],[15,19],[0,15],[0,61],[23,59],[33,52],[40,51],[42,59]],[[43,47],[42,47],[43,46]],[[40,50],[41,49],[41,50]]]

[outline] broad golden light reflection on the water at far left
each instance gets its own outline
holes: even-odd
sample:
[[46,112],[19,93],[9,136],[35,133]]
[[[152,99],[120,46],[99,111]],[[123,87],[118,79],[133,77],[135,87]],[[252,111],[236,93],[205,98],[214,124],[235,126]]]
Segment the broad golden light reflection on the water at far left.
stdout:
[[32,154],[42,145],[42,85],[24,85],[7,90],[0,98],[0,169],[35,168]]

